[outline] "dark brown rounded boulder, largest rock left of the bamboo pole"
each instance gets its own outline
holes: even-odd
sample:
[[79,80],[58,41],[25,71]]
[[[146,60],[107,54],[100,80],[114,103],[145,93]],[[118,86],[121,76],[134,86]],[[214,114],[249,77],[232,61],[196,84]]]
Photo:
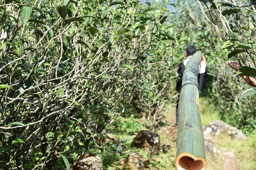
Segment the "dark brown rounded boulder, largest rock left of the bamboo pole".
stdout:
[[159,135],[155,132],[142,130],[133,139],[131,146],[148,151],[151,156],[155,155],[160,149]]

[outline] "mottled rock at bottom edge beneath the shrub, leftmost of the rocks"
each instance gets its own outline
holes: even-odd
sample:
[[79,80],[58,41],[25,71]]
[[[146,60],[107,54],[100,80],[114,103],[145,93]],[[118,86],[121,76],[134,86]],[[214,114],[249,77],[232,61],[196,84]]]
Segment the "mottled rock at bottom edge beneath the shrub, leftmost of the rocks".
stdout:
[[102,161],[98,154],[88,153],[77,159],[76,164],[71,166],[70,170],[103,170]]

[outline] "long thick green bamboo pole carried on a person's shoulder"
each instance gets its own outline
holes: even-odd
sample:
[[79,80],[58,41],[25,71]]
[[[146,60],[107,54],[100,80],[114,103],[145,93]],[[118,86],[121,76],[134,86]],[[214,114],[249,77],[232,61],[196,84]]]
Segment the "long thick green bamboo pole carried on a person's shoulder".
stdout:
[[186,64],[179,100],[176,170],[205,170],[205,149],[198,102],[198,64],[196,52]]

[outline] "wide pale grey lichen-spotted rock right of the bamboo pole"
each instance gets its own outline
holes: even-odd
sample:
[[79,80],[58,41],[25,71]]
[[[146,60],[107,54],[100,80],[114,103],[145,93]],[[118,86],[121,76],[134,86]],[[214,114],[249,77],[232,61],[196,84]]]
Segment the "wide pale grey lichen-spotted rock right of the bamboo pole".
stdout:
[[231,137],[239,139],[247,139],[245,134],[239,129],[230,126],[229,124],[222,121],[213,121],[205,125],[203,128],[204,138],[209,139],[211,136],[218,136],[220,133],[228,133]]

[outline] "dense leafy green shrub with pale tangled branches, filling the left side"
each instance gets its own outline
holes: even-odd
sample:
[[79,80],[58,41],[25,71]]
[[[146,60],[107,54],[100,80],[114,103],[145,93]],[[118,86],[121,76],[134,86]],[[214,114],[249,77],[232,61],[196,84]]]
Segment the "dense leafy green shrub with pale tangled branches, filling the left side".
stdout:
[[166,8],[15,2],[0,6],[1,168],[64,169],[130,107],[159,122],[175,76]]

